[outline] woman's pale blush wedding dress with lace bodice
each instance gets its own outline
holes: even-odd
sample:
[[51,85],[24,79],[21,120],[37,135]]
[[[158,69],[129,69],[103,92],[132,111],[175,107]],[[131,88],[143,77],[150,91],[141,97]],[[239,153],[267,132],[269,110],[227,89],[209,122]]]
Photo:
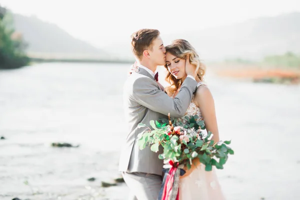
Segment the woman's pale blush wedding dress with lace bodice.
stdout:
[[[197,87],[204,84],[199,82]],[[203,120],[200,108],[193,100],[189,104],[186,115],[198,115],[197,120]],[[183,117],[178,120],[186,120]],[[179,200],[224,200],[214,166],[211,171],[205,171],[203,164],[197,165],[188,176],[179,179]]]

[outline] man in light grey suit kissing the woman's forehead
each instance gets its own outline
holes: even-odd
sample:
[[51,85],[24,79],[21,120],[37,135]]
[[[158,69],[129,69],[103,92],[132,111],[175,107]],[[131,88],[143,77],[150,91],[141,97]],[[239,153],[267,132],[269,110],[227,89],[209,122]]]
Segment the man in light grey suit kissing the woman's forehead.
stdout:
[[[154,79],[157,65],[165,64],[165,47],[156,29],[139,29],[131,35],[131,47],[139,60],[139,68],[125,81],[123,87],[123,106],[127,121],[128,134],[121,151],[119,170],[130,189],[129,200],[156,200],[162,183],[163,160],[158,152],[149,146],[140,150],[137,135],[150,120],[182,117],[189,106],[192,93],[196,89],[195,68],[185,67],[187,77],[176,97],[169,97]],[[156,78],[156,77],[155,77]]]

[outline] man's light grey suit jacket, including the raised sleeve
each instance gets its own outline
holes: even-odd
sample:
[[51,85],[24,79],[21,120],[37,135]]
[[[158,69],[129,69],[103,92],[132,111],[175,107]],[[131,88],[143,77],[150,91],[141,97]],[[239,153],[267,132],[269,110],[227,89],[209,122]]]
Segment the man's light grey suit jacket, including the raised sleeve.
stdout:
[[137,127],[144,123],[148,127],[150,120],[171,117],[181,117],[190,104],[192,93],[197,82],[192,78],[185,78],[175,98],[163,92],[154,78],[143,68],[133,72],[125,81],[123,87],[123,106],[128,124],[128,135],[121,150],[119,170],[125,172],[144,172],[162,174],[163,160],[158,159],[162,148],[158,152],[150,150],[150,146],[142,150],[137,145],[137,135],[145,127]]

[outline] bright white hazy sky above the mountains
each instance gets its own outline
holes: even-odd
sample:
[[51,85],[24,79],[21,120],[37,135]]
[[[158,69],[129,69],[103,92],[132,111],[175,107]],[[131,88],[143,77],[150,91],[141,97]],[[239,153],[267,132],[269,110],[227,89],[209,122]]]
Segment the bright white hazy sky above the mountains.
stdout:
[[138,28],[184,32],[300,11],[300,0],[1,0],[13,12],[56,23],[103,47]]

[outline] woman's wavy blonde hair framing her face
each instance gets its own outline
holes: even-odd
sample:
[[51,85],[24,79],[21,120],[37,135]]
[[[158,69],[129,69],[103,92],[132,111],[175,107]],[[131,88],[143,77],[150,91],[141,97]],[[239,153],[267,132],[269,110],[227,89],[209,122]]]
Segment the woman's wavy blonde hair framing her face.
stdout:
[[[186,56],[189,55],[189,62],[195,65],[195,67],[198,67],[197,77],[203,81],[205,65],[201,62],[196,50],[188,41],[185,39],[175,39],[171,44],[165,46],[165,50],[181,59],[186,59]],[[164,64],[164,67],[167,69],[166,63]],[[169,71],[165,80],[170,84],[170,86],[166,87],[168,94],[173,94],[183,82],[182,79],[176,79]]]

